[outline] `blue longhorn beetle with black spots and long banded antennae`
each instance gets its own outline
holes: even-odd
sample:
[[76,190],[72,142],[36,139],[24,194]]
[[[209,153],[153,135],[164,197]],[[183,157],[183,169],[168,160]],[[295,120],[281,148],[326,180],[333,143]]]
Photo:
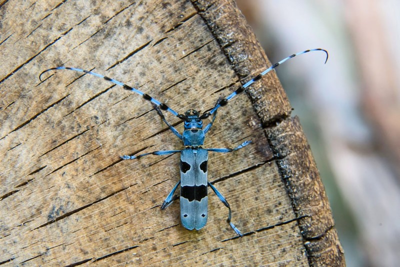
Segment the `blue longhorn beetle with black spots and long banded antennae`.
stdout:
[[[219,97],[214,105],[213,108],[211,108],[209,111],[204,112],[200,115],[200,113],[194,109],[188,109],[184,114],[179,114],[169,106],[167,106],[165,103],[161,103],[157,99],[151,97],[150,95],[133,88],[129,85],[126,85],[123,82],[117,81],[113,78],[109,78],[107,76],[80,69],[80,68],[74,68],[74,67],[65,67],[65,66],[59,66],[59,67],[52,67],[44,70],[43,72],[40,73],[39,79],[41,79],[41,75],[44,72],[47,72],[49,70],[58,70],[58,69],[69,69],[69,70],[74,70],[78,72],[83,72],[87,74],[94,75],[96,77],[103,78],[105,80],[108,80],[114,84],[122,86],[124,89],[133,91],[137,94],[140,94],[143,96],[143,98],[147,101],[150,101],[154,107],[154,109],[157,111],[158,115],[161,117],[161,119],[165,122],[166,125],[168,125],[169,129],[175,134],[179,139],[183,141],[183,145],[185,148],[183,149],[178,149],[178,150],[158,150],[158,151],[153,151],[149,153],[144,153],[140,155],[123,155],[120,156],[122,159],[136,159],[148,154],[153,154],[153,155],[166,155],[166,154],[173,154],[180,152],[180,180],[173,186],[172,190],[168,194],[168,196],[165,198],[164,202],[161,205],[161,209],[165,209],[167,206],[169,206],[172,201],[174,200],[174,193],[176,188],[180,184],[180,220],[182,225],[189,229],[196,229],[199,230],[202,227],[204,227],[205,223],[207,222],[207,205],[208,205],[208,197],[207,197],[207,186],[211,187],[211,189],[214,191],[214,193],[218,196],[219,200],[222,201],[222,203],[228,208],[228,217],[226,221],[229,223],[230,227],[236,232],[237,235],[242,236],[241,232],[239,229],[234,226],[234,224],[230,221],[231,220],[231,210],[228,202],[226,201],[225,197],[210,183],[207,181],[207,162],[208,162],[208,151],[212,152],[221,152],[221,153],[227,153],[227,152],[232,152],[237,149],[240,149],[247,144],[249,144],[251,141],[244,141],[243,143],[239,144],[235,148],[203,148],[203,142],[204,142],[204,137],[205,134],[209,131],[209,129],[212,126],[212,123],[215,120],[216,116],[216,110],[227,104],[227,102],[232,99],[235,95],[243,92],[248,86],[253,84],[255,81],[259,80],[263,75],[277,67],[279,64],[285,62],[286,60],[296,56],[300,55],[303,53],[308,53],[311,51],[323,51],[326,53],[326,59],[325,63],[328,59],[328,52],[325,49],[322,48],[314,48],[314,49],[308,49],[304,50],[295,54],[292,54],[282,60],[280,60],[277,63],[274,63],[264,71],[260,72],[258,75],[241,85],[239,88],[237,88],[235,91],[233,91],[231,94],[229,94],[226,98]],[[163,113],[161,110],[168,111],[172,113],[173,115],[177,116],[181,120],[183,120],[184,124],[184,130],[183,133],[180,134],[164,117]],[[203,129],[202,125],[202,120],[209,117],[212,115],[211,121],[205,126]]]

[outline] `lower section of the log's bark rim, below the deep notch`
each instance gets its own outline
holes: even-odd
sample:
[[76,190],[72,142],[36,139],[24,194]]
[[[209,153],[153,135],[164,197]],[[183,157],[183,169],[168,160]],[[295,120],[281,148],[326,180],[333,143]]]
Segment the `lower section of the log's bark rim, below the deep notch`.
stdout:
[[329,200],[298,117],[265,130],[311,266],[344,266]]

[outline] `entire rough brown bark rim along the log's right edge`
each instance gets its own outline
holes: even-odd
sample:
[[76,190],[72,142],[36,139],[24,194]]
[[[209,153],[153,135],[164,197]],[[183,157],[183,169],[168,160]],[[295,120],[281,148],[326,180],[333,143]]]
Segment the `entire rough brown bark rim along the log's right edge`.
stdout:
[[[192,3],[240,78],[257,74],[270,65],[234,2],[226,0],[223,9],[213,0],[194,0]],[[228,19],[220,19],[222,16]],[[259,83],[247,94],[265,127],[293,211],[296,217],[301,217],[298,226],[308,262],[312,266],[344,266],[344,252],[329,201],[299,120],[290,117],[289,101],[274,72],[269,79],[264,78]],[[277,97],[265,97],[273,94]],[[315,205],[315,201],[319,204]]]

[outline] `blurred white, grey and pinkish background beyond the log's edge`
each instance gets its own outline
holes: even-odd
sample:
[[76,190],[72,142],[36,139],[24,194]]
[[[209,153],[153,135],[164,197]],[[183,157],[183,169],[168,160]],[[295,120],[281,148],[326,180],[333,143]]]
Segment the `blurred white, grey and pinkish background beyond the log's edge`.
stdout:
[[400,1],[237,0],[300,117],[347,266],[400,264]]

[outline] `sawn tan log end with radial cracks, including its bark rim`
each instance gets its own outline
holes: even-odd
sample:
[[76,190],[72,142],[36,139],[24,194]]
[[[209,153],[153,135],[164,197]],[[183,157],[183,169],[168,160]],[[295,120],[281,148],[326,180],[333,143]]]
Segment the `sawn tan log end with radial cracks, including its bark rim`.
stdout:
[[[181,149],[150,103],[205,111],[270,63],[229,0],[0,3],[0,263],[3,265],[344,265],[329,203],[297,118],[272,71],[218,109],[208,222],[160,205]],[[321,55],[323,57],[323,55]],[[321,59],[321,61],[323,61]],[[321,62],[322,63],[322,62]],[[181,131],[180,120],[166,118]]]

